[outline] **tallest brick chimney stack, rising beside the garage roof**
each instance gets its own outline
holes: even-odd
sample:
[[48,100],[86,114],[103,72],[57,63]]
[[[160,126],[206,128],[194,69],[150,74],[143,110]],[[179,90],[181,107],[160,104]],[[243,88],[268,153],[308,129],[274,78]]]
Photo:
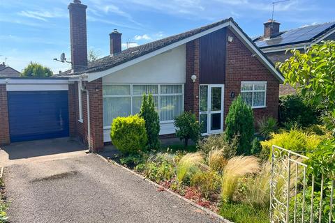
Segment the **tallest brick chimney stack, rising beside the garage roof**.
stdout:
[[86,9],[80,0],[68,5],[70,13],[71,62],[74,72],[87,68]]

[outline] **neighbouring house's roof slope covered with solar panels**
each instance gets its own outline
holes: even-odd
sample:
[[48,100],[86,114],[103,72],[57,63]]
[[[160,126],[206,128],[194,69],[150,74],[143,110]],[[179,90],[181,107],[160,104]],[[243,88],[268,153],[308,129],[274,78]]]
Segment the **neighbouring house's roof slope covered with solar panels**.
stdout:
[[324,24],[315,24],[311,26],[304,26],[298,29],[290,29],[282,31],[277,36],[266,40],[262,36],[253,38],[255,44],[260,48],[280,47],[284,45],[292,45],[299,43],[310,43],[329,31],[334,30],[335,22],[327,22]]

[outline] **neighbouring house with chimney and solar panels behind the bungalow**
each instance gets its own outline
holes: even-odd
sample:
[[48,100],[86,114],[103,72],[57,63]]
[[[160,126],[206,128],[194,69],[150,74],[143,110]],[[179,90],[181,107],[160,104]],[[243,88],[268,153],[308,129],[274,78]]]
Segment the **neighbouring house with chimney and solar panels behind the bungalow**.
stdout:
[[[280,25],[275,20],[269,20],[264,23],[263,35],[253,38],[255,44],[274,64],[283,62],[292,56],[290,52],[286,53],[288,49],[299,49],[301,52],[306,52],[308,47],[322,40],[335,40],[335,22],[302,26],[288,31],[281,31]],[[295,92],[295,89],[288,84],[281,84],[279,88],[280,95]]]

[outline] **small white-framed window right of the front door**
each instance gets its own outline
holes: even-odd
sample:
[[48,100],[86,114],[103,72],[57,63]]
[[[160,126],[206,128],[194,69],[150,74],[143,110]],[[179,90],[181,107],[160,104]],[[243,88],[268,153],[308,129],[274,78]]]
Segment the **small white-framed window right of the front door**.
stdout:
[[241,97],[252,108],[265,107],[267,82],[241,82]]

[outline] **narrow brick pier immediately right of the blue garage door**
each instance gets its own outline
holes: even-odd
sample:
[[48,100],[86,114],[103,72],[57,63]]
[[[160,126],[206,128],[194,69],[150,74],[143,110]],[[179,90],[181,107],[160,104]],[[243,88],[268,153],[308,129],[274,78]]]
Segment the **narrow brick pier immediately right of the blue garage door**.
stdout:
[[[77,84],[77,82],[75,82]],[[76,136],[75,124],[77,122],[75,117],[75,84],[68,84],[68,122],[70,137]]]

